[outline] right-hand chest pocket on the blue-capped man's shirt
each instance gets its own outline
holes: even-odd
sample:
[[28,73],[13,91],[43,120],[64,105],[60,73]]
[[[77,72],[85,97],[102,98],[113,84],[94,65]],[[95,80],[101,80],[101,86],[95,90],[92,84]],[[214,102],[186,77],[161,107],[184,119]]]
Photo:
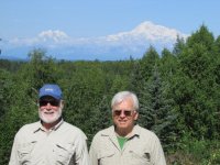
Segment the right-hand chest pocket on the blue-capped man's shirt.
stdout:
[[55,143],[53,152],[55,153],[56,165],[66,165],[75,156],[75,146],[73,143]]

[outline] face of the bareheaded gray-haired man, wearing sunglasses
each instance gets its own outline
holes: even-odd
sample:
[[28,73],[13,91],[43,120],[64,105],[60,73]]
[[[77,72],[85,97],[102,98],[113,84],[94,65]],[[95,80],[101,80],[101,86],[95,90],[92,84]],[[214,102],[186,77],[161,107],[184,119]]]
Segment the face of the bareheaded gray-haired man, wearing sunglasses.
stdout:
[[112,109],[113,122],[117,129],[121,131],[132,131],[134,121],[138,117],[139,114],[133,108],[133,101],[131,98],[124,99]]

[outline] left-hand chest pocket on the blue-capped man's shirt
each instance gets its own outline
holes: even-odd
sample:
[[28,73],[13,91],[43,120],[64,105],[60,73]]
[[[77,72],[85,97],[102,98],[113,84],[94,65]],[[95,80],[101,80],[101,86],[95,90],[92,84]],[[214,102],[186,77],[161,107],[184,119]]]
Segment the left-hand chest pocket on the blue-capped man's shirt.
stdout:
[[31,152],[34,148],[35,141],[22,143],[18,146],[18,156],[22,165],[31,163]]

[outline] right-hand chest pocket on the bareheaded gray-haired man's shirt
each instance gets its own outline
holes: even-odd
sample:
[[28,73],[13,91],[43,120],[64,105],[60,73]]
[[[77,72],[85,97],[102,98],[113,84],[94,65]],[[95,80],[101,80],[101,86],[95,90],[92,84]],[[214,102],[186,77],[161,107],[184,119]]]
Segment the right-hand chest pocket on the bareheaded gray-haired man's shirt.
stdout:
[[129,151],[131,165],[152,165],[151,154],[147,150],[133,150]]

